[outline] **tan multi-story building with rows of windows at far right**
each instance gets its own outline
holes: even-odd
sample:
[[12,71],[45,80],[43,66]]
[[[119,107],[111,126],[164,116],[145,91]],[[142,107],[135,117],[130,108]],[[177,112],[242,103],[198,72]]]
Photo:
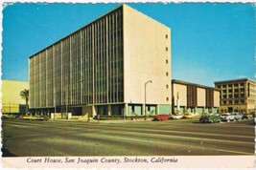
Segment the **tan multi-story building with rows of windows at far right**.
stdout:
[[248,78],[216,81],[215,87],[221,92],[221,112],[255,112],[255,81]]

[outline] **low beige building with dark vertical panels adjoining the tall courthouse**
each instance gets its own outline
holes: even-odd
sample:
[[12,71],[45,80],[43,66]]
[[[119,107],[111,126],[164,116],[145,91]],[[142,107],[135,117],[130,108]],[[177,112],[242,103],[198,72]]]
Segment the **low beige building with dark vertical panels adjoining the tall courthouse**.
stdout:
[[217,113],[220,107],[220,92],[181,80],[172,80],[173,113]]

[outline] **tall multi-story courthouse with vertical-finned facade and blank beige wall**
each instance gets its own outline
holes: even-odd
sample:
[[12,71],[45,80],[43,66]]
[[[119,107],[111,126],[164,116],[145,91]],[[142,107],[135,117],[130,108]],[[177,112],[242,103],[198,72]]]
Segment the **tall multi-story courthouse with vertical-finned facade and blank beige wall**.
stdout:
[[127,5],[29,61],[33,113],[92,117],[171,112],[171,30]]

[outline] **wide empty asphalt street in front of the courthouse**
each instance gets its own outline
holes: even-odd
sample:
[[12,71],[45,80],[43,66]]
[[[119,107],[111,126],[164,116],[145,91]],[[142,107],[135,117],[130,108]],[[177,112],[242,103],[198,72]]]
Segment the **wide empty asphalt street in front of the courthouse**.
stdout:
[[3,157],[252,156],[253,119],[168,121],[4,120]]

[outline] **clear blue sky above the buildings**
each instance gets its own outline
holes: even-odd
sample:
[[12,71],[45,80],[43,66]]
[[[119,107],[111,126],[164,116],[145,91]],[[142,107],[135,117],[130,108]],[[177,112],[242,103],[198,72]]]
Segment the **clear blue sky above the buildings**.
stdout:
[[[247,4],[128,4],[172,30],[172,79],[214,86],[255,76],[255,9]],[[3,10],[2,79],[28,81],[29,56],[119,4],[13,4]]]

